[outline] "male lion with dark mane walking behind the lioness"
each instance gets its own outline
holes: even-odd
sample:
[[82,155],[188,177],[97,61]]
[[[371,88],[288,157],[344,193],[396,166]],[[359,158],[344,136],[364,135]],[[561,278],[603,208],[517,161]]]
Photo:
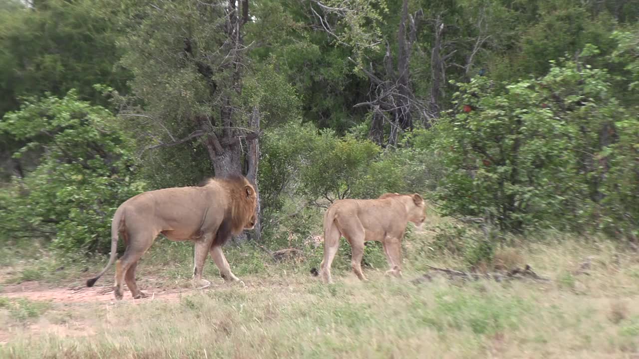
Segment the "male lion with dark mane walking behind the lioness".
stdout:
[[116,262],[116,299],[122,299],[122,282],[127,282],[133,298],[146,294],[135,283],[135,267],[142,254],[151,247],[158,234],[173,241],[195,242],[193,281],[208,286],[202,279],[206,254],[210,253],[224,280],[239,280],[231,273],[222,253],[222,245],[243,229],[253,229],[257,195],[243,176],[211,178],[199,187],[175,187],[135,195],[118,207],[111,222],[111,257],[95,278],[86,281],[93,286],[116,258],[118,234],[127,249]]

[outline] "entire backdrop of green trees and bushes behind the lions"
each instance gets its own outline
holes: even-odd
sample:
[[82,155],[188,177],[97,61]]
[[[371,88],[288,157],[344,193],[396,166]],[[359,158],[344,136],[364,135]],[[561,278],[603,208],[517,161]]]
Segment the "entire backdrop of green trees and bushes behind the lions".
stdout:
[[623,0],[6,1],[0,240],[104,252],[130,195],[232,172],[269,236],[420,192],[500,233],[637,240],[638,20]]

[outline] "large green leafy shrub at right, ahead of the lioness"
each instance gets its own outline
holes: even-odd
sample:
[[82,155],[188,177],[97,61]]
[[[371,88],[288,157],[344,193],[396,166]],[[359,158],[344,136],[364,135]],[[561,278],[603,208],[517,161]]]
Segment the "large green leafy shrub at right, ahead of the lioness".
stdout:
[[459,84],[455,109],[427,135],[448,167],[436,194],[444,213],[488,215],[502,231],[594,227],[632,236],[639,179],[629,157],[639,120],[613,93],[606,70],[576,61],[553,63],[540,79]]

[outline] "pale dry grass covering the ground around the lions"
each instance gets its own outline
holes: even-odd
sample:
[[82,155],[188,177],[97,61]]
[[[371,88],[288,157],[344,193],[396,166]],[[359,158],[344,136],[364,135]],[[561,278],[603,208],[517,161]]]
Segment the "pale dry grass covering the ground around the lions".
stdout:
[[[152,249],[141,286],[188,282],[192,249],[184,248],[174,247],[173,259],[163,245]],[[268,263],[247,248],[227,252],[247,287],[222,285],[173,302],[125,296],[43,307],[0,299],[0,328],[8,328],[0,331],[0,357],[639,358],[639,259],[607,241],[557,236],[496,253],[503,266],[530,264],[553,279],[543,283],[439,278],[416,286],[408,280],[423,263],[408,256],[402,280],[383,277],[385,268],[368,268],[366,283],[337,270],[337,283],[327,286],[305,266]],[[588,274],[575,274],[589,256]],[[212,264],[207,271],[216,274]]]

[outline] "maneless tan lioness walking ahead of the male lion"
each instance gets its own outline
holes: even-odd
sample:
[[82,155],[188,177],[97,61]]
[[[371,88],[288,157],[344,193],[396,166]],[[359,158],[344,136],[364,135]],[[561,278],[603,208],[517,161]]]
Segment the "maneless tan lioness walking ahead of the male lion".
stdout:
[[424,200],[419,194],[387,193],[378,199],[335,201],[324,215],[324,259],[319,274],[325,282],[332,283],[330,264],[339,248],[339,238],[344,236],[352,248],[351,267],[360,280],[366,280],[361,265],[364,241],[381,241],[390,264],[386,273],[401,277],[400,241],[406,225],[409,221],[422,225],[425,219]]

